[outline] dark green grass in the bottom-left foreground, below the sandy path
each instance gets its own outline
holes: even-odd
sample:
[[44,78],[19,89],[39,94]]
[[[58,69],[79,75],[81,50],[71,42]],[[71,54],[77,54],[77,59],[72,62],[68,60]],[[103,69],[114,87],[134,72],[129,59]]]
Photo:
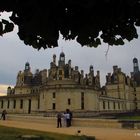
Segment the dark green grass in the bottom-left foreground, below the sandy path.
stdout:
[[[22,138],[23,135],[35,135],[39,138]],[[0,126],[0,140],[95,140],[94,137],[71,136],[35,130]]]

